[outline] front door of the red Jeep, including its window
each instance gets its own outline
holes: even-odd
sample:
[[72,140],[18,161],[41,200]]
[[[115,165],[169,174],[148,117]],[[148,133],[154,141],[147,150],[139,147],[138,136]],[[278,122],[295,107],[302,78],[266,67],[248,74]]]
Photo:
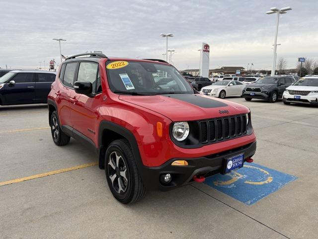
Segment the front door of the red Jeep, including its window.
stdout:
[[97,107],[102,103],[98,64],[95,62],[80,62],[78,76],[75,81],[90,82],[93,87],[92,95],[86,96],[72,91],[71,118],[72,127],[93,142],[97,142]]

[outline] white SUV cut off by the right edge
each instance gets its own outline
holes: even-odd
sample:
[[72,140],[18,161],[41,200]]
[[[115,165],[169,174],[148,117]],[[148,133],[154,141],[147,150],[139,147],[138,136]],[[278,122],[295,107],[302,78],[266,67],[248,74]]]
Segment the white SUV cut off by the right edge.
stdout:
[[318,76],[300,78],[283,93],[285,105],[290,103],[304,103],[318,105]]

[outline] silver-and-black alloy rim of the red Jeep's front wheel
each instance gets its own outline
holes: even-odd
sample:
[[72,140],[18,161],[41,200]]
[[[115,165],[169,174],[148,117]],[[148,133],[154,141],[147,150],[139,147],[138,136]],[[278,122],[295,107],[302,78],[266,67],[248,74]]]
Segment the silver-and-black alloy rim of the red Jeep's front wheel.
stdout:
[[113,151],[108,158],[108,177],[115,191],[123,194],[127,190],[127,166],[122,155]]

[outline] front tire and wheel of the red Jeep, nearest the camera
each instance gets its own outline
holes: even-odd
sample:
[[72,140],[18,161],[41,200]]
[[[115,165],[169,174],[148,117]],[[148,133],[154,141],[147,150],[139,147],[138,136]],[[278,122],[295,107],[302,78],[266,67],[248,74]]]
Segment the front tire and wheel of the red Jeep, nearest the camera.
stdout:
[[136,202],[146,194],[126,139],[114,140],[109,144],[105,155],[105,174],[111,193],[123,204]]

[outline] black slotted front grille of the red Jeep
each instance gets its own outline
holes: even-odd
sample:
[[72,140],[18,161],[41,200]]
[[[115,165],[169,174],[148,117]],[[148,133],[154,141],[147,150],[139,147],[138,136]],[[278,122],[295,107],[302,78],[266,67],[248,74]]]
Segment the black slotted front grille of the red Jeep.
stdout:
[[225,141],[247,133],[246,115],[200,120],[200,142]]

